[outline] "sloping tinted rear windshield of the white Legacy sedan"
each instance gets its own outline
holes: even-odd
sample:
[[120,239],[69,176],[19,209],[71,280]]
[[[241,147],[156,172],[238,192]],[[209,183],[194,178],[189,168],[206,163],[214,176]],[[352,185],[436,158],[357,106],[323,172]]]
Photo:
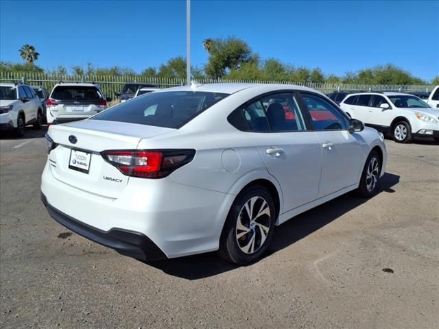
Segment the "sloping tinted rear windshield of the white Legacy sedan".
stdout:
[[197,91],[151,93],[109,108],[92,119],[179,128],[227,96]]

